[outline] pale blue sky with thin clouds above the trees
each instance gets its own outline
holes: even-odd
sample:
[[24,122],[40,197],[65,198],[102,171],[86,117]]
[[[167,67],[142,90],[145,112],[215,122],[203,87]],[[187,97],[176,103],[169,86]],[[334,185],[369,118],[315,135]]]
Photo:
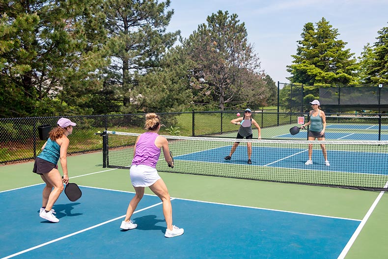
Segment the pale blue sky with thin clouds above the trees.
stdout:
[[171,0],[174,15],[167,31],[188,38],[198,25],[218,10],[235,13],[245,23],[248,41],[261,61],[261,69],[275,82],[289,83],[287,65],[296,54],[306,23],[324,17],[346,49],[360,57],[363,47],[375,43],[378,31],[388,27],[388,0]]

